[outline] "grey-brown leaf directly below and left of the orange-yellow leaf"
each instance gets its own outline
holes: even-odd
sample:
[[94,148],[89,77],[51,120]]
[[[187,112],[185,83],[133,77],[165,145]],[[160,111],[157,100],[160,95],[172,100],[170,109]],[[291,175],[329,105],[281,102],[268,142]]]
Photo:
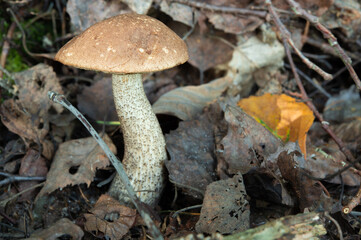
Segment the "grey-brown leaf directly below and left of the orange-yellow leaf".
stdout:
[[282,146],[280,139],[264,128],[241,109],[229,106],[225,110],[228,133],[223,138],[223,158],[228,163],[228,172],[242,174],[258,168],[271,153]]

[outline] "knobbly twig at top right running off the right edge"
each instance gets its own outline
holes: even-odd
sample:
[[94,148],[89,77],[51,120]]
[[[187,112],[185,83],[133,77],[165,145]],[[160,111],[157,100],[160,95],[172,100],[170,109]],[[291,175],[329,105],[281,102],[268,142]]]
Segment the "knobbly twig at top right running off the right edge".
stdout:
[[318,18],[316,16],[313,16],[309,12],[305,11],[299,3],[295,2],[294,0],[287,0],[288,4],[291,6],[293,12],[304,18],[305,20],[312,23],[323,35],[325,39],[328,40],[328,43],[330,46],[334,49],[334,51],[338,54],[338,56],[341,58],[342,62],[345,64],[347,70],[349,71],[352,79],[354,80],[357,88],[361,90],[361,81],[358,78],[355,70],[352,67],[352,60],[347,56],[345,51],[342,49],[340,44],[337,41],[337,38],[328,30],[325,26],[323,26]]

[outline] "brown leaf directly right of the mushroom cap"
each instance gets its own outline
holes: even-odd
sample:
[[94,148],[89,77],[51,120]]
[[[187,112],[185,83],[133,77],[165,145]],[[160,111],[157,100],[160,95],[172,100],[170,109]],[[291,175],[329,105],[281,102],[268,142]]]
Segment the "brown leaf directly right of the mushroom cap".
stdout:
[[234,49],[218,39],[224,37],[226,37],[224,34],[217,38],[209,37],[205,33],[201,33],[197,25],[193,33],[186,39],[189,52],[188,62],[200,71],[205,71],[231,60]]

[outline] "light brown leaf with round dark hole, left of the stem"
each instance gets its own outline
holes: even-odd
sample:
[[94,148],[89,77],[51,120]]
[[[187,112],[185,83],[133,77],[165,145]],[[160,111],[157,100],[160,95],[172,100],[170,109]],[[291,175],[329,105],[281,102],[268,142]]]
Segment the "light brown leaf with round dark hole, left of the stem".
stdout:
[[[116,153],[111,139],[107,135],[103,139]],[[67,185],[86,183],[89,186],[96,170],[108,165],[109,159],[93,137],[64,142],[54,156],[45,185],[37,198]]]

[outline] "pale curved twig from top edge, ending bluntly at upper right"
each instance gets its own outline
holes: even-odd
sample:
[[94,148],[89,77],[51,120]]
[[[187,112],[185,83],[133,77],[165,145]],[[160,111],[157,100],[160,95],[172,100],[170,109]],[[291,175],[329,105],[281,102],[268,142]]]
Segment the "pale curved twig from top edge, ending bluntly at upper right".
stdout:
[[319,66],[315,63],[311,62],[307,57],[305,57],[302,52],[296,47],[295,43],[291,38],[291,33],[287,30],[285,25],[281,22],[280,18],[278,17],[276,11],[273,8],[271,0],[266,0],[266,5],[268,6],[268,11],[270,12],[273,22],[275,23],[277,29],[281,33],[281,38],[286,40],[286,42],[292,47],[295,53],[301,58],[302,62],[307,65],[310,69],[314,70],[318,74],[320,74],[325,80],[331,80],[332,75],[323,71]]

